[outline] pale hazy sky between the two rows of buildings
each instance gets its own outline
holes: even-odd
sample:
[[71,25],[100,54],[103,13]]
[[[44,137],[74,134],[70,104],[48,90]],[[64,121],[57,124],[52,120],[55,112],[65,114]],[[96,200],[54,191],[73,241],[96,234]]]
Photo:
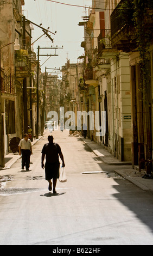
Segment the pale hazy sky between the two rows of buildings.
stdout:
[[[70,63],[79,62],[78,57],[84,54],[84,48],[82,48],[81,41],[84,41],[84,27],[78,26],[79,22],[83,21],[82,16],[88,16],[88,7],[91,7],[91,0],[58,0],[51,2],[49,0],[24,0],[23,14],[26,19],[40,25],[42,23],[43,28],[48,28],[49,31],[55,33],[49,33],[54,42],[52,42],[46,36],[42,36],[37,40],[34,46],[34,52],[37,54],[37,47],[40,46],[41,54],[55,54],[55,49],[41,49],[41,47],[59,47],[56,49],[58,56],[40,56],[41,72],[44,72],[45,67],[48,72],[56,74],[61,69],[62,65],[67,63],[67,59]],[[55,3],[56,2],[56,3]],[[81,5],[82,7],[73,7],[60,3]],[[31,43],[38,39],[42,34],[42,29],[33,25],[32,31],[33,38]],[[63,48],[62,48],[63,47]],[[50,69],[50,70],[49,70]],[[61,74],[58,74],[59,78]]]

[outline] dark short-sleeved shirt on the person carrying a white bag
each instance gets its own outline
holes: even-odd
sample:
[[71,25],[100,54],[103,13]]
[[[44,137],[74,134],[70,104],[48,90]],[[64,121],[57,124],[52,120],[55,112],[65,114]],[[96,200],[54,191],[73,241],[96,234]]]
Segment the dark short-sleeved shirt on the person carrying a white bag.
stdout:
[[46,143],[44,144],[41,153],[46,155],[47,163],[55,163],[59,162],[59,154],[61,153],[61,148],[57,143]]

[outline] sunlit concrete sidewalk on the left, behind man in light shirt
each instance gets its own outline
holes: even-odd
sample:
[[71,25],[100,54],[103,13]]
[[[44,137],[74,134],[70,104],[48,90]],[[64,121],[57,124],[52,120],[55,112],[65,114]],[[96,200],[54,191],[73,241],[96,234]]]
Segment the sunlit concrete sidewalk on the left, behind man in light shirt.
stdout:
[[[31,142],[32,145],[34,145],[37,141],[39,141],[39,139],[41,139],[42,136],[39,136],[38,139],[34,139],[33,142]],[[12,164],[14,164],[18,159],[20,159],[21,156],[18,155],[18,153],[9,153],[8,155],[6,155],[4,157],[4,161],[5,161],[5,166],[1,167],[0,166],[0,170],[5,170],[5,169],[9,169],[11,168]]]

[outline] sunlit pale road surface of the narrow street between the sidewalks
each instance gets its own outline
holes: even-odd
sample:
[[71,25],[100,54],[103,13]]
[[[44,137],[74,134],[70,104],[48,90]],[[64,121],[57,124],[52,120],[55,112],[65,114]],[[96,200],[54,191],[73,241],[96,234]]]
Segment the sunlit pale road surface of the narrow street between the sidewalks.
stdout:
[[33,146],[29,171],[21,170],[21,159],[0,171],[0,244],[153,245],[152,192],[113,173],[117,166],[101,162],[68,131],[52,132],[67,182],[58,180],[57,194],[48,191],[41,150],[49,134]]

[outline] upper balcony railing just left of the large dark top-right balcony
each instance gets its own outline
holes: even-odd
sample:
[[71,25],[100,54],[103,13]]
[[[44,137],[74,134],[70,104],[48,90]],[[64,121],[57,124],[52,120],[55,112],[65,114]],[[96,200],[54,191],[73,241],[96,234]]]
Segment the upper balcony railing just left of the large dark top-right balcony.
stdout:
[[98,52],[103,49],[110,49],[111,45],[111,29],[101,29],[98,36]]

